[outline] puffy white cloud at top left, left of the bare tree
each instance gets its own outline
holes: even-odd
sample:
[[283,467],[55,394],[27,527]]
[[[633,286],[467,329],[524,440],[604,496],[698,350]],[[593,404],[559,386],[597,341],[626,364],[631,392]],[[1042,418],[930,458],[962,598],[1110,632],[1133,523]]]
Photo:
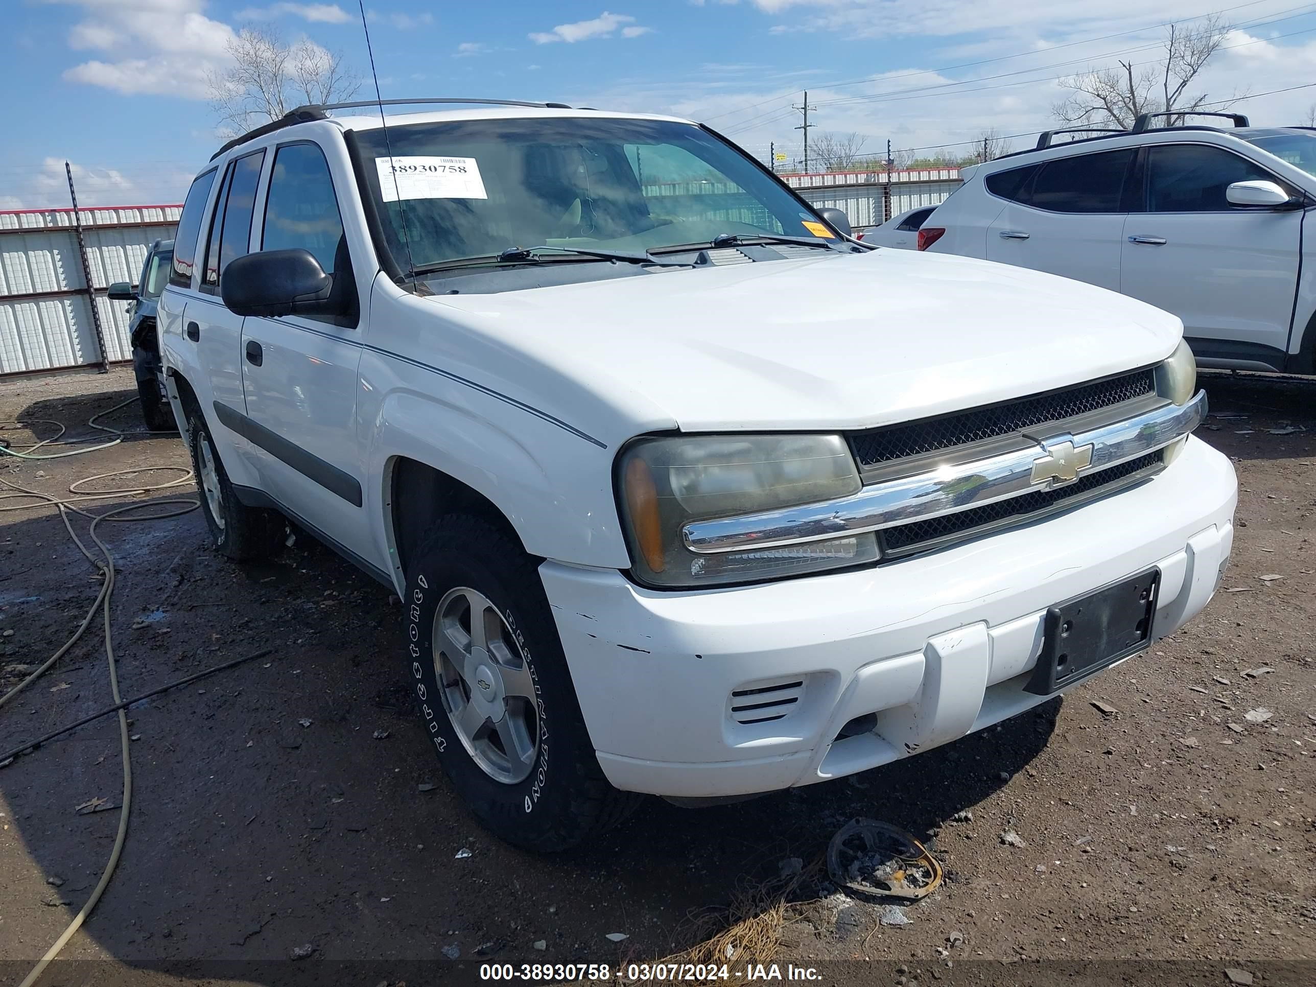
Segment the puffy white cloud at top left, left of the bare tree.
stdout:
[[46,1],[82,9],[71,47],[108,53],[64,70],[70,82],[204,99],[207,72],[228,59],[233,29],[207,17],[204,0]]

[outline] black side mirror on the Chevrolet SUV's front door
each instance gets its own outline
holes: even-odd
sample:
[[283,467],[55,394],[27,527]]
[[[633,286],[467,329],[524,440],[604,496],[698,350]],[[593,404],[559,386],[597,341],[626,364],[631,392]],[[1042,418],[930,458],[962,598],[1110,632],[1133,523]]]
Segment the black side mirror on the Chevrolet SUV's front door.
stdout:
[[309,250],[263,250],[229,262],[220,297],[240,316],[336,316],[333,278]]

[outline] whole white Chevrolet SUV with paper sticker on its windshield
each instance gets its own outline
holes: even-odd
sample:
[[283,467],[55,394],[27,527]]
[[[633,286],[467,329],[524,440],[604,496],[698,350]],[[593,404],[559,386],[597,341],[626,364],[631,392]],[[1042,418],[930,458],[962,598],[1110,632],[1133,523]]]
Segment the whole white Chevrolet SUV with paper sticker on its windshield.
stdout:
[[337,109],[197,175],[167,390],[221,553],[286,517],[401,597],[499,836],[917,754],[1211,599],[1236,480],[1174,316],[871,250],[683,120]]

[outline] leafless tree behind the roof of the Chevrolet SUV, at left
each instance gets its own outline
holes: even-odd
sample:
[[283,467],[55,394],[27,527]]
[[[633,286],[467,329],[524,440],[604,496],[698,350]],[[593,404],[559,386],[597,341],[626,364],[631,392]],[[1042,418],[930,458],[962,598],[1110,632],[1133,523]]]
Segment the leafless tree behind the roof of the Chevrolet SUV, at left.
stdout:
[[361,76],[309,38],[291,45],[274,30],[243,28],[229,42],[230,63],[207,76],[220,126],[240,134],[309,103],[349,100]]

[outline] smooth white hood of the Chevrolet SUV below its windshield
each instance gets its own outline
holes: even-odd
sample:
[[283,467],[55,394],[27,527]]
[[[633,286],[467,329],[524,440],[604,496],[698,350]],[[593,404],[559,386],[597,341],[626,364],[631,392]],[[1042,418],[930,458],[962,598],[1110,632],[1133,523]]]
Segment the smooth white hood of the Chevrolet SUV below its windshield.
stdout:
[[1021,267],[874,250],[430,299],[645,428],[861,429],[1165,359],[1182,322]]

